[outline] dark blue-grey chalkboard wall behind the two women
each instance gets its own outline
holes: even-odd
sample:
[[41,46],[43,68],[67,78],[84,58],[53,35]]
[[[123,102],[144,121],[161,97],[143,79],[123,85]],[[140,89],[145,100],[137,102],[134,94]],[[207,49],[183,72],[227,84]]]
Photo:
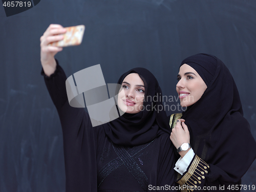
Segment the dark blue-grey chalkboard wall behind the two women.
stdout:
[[[40,75],[39,38],[51,23],[86,25],[82,44],[56,55],[67,76],[100,63],[114,83],[144,67],[168,96],[177,96],[185,57],[216,55],[237,83],[256,138],[256,1],[41,0],[10,17],[0,7],[1,192],[65,191],[60,122]],[[256,184],[256,161],[242,183]]]

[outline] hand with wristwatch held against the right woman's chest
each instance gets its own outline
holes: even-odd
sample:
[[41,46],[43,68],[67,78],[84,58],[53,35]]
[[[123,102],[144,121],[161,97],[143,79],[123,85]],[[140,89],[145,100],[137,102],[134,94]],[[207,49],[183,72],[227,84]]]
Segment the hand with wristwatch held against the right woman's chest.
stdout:
[[[189,143],[190,142],[190,135],[189,131],[187,129],[187,125],[184,123],[184,119],[178,119],[175,127],[172,130],[172,133],[170,134],[170,140],[172,140],[174,146],[176,148],[179,148],[182,143]],[[187,151],[180,152],[180,155],[183,157],[183,154],[186,154]],[[185,152],[185,153],[184,153]]]

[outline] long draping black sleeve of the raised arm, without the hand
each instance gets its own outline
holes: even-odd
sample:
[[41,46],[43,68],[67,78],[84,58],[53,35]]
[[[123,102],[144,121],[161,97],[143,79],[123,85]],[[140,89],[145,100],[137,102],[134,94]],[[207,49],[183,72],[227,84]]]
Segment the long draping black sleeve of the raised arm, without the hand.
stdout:
[[66,75],[56,60],[55,72],[48,77],[42,70],[49,94],[56,106],[63,134],[66,191],[97,191],[96,137],[88,113],[70,106]]

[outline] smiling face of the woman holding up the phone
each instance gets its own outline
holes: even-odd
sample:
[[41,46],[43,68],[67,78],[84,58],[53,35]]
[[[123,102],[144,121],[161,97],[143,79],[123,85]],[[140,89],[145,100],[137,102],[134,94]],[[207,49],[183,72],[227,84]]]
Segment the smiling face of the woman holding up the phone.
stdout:
[[118,94],[118,106],[125,113],[139,113],[143,109],[145,87],[137,73],[127,75]]

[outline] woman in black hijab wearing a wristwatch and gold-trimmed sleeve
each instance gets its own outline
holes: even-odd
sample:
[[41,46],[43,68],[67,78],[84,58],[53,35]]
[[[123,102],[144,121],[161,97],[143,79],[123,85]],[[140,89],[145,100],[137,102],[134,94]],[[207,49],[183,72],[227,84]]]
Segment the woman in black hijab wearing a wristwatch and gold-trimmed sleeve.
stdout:
[[175,169],[188,167],[176,182],[188,191],[240,191],[241,178],[256,158],[256,142],[229,70],[217,57],[197,54],[182,61],[178,80],[187,110],[177,123],[180,116],[171,116],[170,139],[181,155]]

